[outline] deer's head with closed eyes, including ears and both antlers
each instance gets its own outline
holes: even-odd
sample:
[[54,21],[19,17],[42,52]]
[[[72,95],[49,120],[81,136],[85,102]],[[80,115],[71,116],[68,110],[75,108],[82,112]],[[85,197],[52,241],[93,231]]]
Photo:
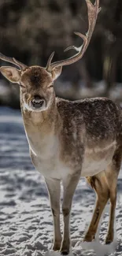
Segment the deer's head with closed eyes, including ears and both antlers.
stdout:
[[20,85],[22,101],[26,109],[31,111],[43,111],[48,109],[54,100],[54,80],[60,76],[62,66],[71,65],[72,63],[79,61],[87,50],[100,9],[98,8],[99,0],[96,0],[94,5],[90,0],[86,0],[86,2],[89,28],[86,35],[75,32],[76,35],[79,35],[79,37],[83,39],[83,44],[79,47],[69,46],[65,49],[65,51],[70,49],[77,51],[77,54],[71,58],[51,63],[54,57],[53,53],[47,61],[46,68],[43,68],[40,66],[28,67],[20,61],[17,61],[15,58],[8,58],[5,55],[0,54],[2,60],[13,63],[13,65],[17,65],[20,68],[17,69],[11,66],[2,66],[0,71],[10,82],[18,83]]

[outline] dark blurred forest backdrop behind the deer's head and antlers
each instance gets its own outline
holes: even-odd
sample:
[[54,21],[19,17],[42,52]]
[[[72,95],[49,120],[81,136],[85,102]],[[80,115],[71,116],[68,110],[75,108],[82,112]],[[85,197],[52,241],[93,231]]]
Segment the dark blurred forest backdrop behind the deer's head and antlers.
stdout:
[[[55,84],[61,97],[122,99],[122,1],[100,0],[100,6],[86,54],[82,60],[64,67]],[[64,50],[82,43],[73,33],[77,31],[87,32],[85,0],[0,1],[0,51],[26,65],[46,66],[52,51],[54,61],[72,56],[73,50]],[[6,63],[1,61],[1,65]],[[0,78],[0,104],[18,107],[18,86]]]

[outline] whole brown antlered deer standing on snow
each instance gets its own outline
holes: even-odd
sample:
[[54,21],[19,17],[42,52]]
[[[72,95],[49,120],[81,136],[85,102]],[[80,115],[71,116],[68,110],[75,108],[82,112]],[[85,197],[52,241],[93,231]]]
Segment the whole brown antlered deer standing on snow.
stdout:
[[[71,247],[70,213],[72,198],[80,177],[96,193],[94,213],[83,241],[95,239],[99,221],[107,202],[110,202],[109,228],[105,243],[114,239],[116,186],[122,160],[122,111],[109,98],[85,98],[69,101],[57,98],[54,80],[62,67],[79,61],[87,50],[97,21],[99,0],[86,0],[88,31],[76,32],[83,43],[69,46],[76,54],[65,60],[52,62],[46,68],[24,65],[15,58],[0,54],[0,59],[13,66],[2,66],[0,71],[11,83],[20,85],[20,108],[28,139],[31,161],[44,177],[54,220],[52,250],[68,254]],[[61,184],[63,202],[60,206]],[[63,236],[60,229],[60,207],[63,213]]]

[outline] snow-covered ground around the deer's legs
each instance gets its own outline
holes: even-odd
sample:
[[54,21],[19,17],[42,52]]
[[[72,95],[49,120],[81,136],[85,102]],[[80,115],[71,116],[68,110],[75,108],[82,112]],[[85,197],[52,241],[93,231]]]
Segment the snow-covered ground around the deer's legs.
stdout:
[[[81,243],[94,209],[95,196],[86,180],[79,181],[71,214],[71,255],[122,255],[122,175],[118,180],[116,236],[105,246],[109,206],[99,239]],[[62,229],[62,219],[61,219]],[[41,176],[32,166],[20,111],[0,108],[0,256],[57,256],[50,250],[53,222]]]

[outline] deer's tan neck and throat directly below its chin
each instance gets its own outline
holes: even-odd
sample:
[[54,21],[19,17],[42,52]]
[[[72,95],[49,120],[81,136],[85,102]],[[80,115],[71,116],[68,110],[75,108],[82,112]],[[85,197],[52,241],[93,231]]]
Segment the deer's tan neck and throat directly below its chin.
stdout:
[[[57,132],[61,128],[61,117],[57,111],[56,101],[52,102],[49,109],[42,112],[28,111],[21,104],[24,128],[28,138],[28,143],[36,152],[41,152],[41,148],[51,147],[57,139]],[[50,145],[49,145],[50,144]]]

